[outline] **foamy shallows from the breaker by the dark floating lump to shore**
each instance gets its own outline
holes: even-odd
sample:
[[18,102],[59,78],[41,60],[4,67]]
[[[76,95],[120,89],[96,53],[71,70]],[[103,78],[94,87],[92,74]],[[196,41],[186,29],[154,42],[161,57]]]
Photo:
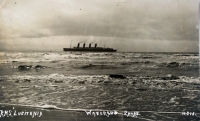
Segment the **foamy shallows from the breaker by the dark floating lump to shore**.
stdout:
[[0,91],[4,97],[0,104],[33,106],[48,111],[92,109],[180,112],[185,107],[196,111],[194,103],[198,104],[200,93],[200,77],[175,75],[54,73],[0,76],[0,80]]

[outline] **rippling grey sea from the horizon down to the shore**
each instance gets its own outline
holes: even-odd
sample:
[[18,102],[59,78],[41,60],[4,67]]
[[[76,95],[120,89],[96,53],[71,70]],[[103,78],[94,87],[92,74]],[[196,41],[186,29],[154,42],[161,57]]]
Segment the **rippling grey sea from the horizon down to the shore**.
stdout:
[[0,52],[0,105],[80,111],[87,120],[100,119],[86,110],[119,112],[101,120],[199,120],[199,54]]

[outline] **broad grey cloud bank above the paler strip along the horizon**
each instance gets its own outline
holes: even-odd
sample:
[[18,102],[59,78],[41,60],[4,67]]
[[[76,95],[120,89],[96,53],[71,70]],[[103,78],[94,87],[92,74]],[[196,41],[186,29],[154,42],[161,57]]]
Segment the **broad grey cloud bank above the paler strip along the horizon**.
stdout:
[[185,3],[185,0],[41,0],[18,1],[17,6],[11,3],[4,10],[4,13],[10,16],[4,13],[0,15],[0,18],[3,18],[0,20],[1,38],[92,35],[132,39],[198,40],[198,4]]

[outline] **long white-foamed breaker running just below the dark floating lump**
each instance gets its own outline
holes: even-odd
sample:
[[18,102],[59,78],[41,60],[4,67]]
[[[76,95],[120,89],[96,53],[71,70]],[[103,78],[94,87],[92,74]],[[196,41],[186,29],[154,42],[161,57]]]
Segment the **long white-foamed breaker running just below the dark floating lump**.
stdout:
[[[120,77],[122,77],[121,75]],[[187,84],[200,84],[200,77],[184,77],[184,76],[133,76],[124,75],[123,78],[113,78],[112,75],[63,75],[63,74],[50,74],[40,76],[1,76],[2,81],[11,81],[16,83],[76,83],[76,84],[112,84],[112,85],[135,85],[137,88],[142,89],[178,89],[186,88]]]

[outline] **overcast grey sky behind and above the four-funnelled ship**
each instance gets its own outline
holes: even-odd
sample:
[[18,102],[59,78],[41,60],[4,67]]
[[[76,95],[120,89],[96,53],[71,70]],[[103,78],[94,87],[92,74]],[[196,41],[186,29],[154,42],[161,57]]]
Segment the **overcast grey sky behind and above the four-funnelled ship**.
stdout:
[[78,42],[126,52],[198,52],[198,0],[1,0],[0,50]]

